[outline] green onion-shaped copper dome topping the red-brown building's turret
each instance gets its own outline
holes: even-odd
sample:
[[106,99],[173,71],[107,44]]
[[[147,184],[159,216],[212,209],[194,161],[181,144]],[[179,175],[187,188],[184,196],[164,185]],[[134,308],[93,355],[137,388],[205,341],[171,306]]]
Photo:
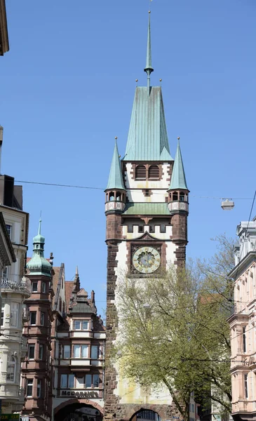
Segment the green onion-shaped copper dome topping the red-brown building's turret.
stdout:
[[27,263],[27,269],[29,269],[30,275],[44,275],[51,276],[52,266],[44,258],[43,246],[45,238],[41,235],[41,219],[39,220],[38,234],[33,239],[33,257]]

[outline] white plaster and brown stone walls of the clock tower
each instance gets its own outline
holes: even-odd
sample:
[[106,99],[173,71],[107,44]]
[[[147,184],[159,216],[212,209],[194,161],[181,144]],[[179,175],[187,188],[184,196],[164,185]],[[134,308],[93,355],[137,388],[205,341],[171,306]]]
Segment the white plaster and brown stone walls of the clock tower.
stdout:
[[[127,205],[142,203],[147,215],[139,213],[107,212],[107,344],[106,356],[111,352],[118,326],[119,285],[125,274],[133,276],[133,253],[137,248],[156,248],[161,255],[161,267],[183,264],[187,245],[187,213],[172,214],[168,210],[168,187],[173,169],[169,163],[142,163],[158,165],[159,180],[136,180],[135,169],[140,163],[123,162],[123,180],[126,188]],[[154,203],[154,209],[161,204],[164,213],[150,214],[147,203]],[[153,209],[153,208],[152,208]],[[138,274],[138,272],[137,272]],[[136,276],[137,278],[137,276]],[[143,274],[142,274],[143,278]],[[140,278],[137,278],[140,280]],[[163,420],[179,416],[168,389],[147,392],[143,387],[123,378],[117,364],[107,363],[105,373],[105,419],[129,420],[141,408],[155,410]]]

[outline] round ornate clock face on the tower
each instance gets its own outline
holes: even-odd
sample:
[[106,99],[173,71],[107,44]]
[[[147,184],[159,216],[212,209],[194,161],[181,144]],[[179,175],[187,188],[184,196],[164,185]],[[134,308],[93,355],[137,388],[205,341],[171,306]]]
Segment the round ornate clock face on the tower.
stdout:
[[161,257],[153,247],[140,247],[133,255],[133,266],[142,274],[151,274],[159,268]]

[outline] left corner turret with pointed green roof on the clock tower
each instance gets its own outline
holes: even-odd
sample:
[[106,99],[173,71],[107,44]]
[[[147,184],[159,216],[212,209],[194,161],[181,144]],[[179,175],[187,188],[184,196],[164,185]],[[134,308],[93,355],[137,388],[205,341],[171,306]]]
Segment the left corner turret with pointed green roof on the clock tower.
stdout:
[[[116,138],[117,140],[117,138]],[[115,142],[109,181],[105,189],[105,213],[121,213],[126,207],[126,189],[123,185],[123,175],[117,142]]]

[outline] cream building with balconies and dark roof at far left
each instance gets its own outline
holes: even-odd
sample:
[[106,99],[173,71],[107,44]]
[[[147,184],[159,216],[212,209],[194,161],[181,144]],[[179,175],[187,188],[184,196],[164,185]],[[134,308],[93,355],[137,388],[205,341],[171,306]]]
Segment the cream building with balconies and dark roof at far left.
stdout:
[[[0,155],[3,128],[0,126]],[[1,270],[0,399],[2,413],[22,408],[20,361],[27,352],[22,325],[27,316],[23,302],[30,295],[25,278],[29,214],[22,210],[22,187],[14,178],[0,175],[0,212],[3,217],[1,241],[11,241],[10,257]]]

